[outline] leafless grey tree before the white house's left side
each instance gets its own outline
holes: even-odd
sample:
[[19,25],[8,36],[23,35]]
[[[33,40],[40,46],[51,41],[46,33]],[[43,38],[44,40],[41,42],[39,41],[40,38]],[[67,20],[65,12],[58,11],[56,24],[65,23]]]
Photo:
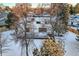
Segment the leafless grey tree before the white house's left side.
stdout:
[[[21,21],[16,23],[16,28],[15,28],[15,37],[16,37],[16,42],[21,43],[21,55],[22,55],[22,49],[24,46],[26,47],[26,55],[28,56],[28,47],[29,44],[33,42],[32,38],[34,36],[33,32],[29,32],[32,30],[31,23],[30,26],[27,24],[27,15],[25,15],[23,18],[21,18]],[[28,34],[28,32],[30,34]]]

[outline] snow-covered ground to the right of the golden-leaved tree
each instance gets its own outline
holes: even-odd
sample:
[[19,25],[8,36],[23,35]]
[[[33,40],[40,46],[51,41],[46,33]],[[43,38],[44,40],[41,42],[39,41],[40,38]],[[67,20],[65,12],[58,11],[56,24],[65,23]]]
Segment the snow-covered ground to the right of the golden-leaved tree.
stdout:
[[65,56],[79,56],[79,42],[76,41],[76,34],[67,32],[65,34]]

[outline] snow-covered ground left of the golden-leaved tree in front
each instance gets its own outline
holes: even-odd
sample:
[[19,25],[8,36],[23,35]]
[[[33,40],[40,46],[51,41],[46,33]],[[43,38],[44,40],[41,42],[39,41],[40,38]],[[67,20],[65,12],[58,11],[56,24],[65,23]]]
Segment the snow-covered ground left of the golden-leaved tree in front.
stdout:
[[[14,30],[10,30],[10,31],[6,31],[3,32],[2,35],[4,38],[8,39],[8,41],[10,41],[8,43],[8,50],[6,53],[3,53],[3,56],[21,56],[21,46],[20,43],[15,43],[12,39],[12,36],[10,34],[12,34],[14,32]],[[33,43],[31,43],[29,45],[29,55],[33,56],[32,51],[34,48],[40,48],[42,46],[42,42],[43,40],[40,39],[34,39]],[[25,48],[23,49],[23,55],[25,55]]]

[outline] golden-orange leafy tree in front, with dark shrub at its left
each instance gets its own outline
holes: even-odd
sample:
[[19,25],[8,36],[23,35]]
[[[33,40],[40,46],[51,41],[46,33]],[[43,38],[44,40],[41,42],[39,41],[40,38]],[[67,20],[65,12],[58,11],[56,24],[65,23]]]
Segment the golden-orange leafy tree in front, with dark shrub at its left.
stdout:
[[38,49],[34,49],[34,56],[63,56],[64,48],[60,43],[54,41],[53,38],[46,39],[43,46]]

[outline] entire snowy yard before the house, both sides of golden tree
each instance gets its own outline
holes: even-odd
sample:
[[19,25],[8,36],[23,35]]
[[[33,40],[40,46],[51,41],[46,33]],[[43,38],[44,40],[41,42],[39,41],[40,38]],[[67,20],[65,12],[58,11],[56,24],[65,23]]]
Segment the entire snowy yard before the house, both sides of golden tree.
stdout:
[[[6,31],[3,32],[3,37],[8,39],[12,39],[10,34],[13,32],[11,31]],[[79,42],[75,40],[76,35],[72,32],[67,32],[64,35],[65,38],[65,56],[79,56]],[[42,46],[42,40],[34,40],[33,41],[35,46],[37,48],[40,48]],[[14,41],[10,41],[8,43],[9,45],[9,51],[6,51],[6,53],[3,53],[3,56],[21,56],[21,46],[20,43],[15,43]],[[32,51],[33,51],[33,44],[30,45],[29,47],[29,55],[32,56]],[[23,51],[23,55],[25,55],[25,51]]]

